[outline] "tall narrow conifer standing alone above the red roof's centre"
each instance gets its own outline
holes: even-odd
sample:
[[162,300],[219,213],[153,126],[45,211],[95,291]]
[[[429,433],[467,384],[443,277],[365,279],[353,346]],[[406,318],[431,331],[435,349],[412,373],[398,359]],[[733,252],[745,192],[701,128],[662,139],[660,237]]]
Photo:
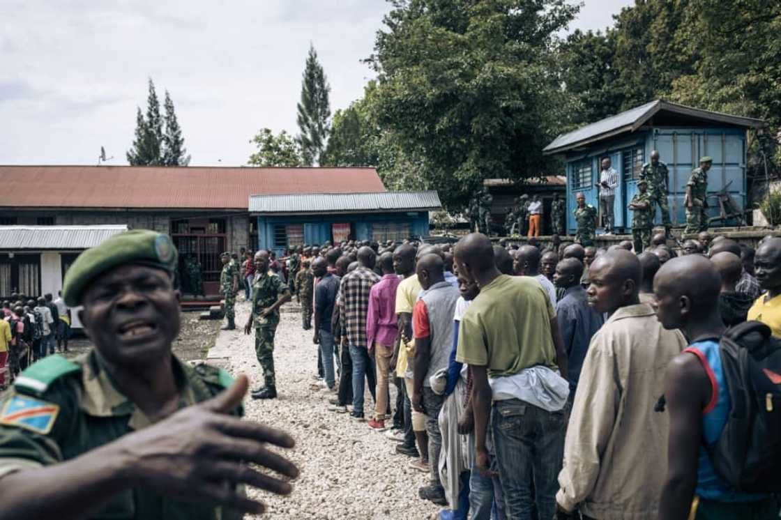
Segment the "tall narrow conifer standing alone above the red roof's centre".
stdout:
[[317,60],[315,47],[309,45],[301,80],[301,102],[298,103],[298,129],[301,134],[297,138],[304,164],[308,166],[316,162],[319,164],[326,148],[330,131],[330,90],[323,66]]

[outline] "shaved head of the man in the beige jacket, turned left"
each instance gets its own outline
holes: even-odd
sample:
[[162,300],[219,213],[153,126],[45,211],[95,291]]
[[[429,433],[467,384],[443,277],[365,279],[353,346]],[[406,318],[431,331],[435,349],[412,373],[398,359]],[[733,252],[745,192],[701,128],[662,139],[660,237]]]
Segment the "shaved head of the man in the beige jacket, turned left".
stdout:
[[598,256],[589,268],[589,305],[597,312],[612,313],[640,303],[642,276],[640,260],[626,249],[618,248]]

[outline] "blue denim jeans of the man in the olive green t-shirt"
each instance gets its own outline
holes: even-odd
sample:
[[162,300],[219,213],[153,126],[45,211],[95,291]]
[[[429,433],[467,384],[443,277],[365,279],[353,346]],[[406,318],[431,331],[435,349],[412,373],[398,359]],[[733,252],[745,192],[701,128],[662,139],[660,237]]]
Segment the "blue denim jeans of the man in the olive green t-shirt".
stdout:
[[494,403],[491,433],[507,518],[554,517],[566,426],[564,410],[545,411],[519,399]]

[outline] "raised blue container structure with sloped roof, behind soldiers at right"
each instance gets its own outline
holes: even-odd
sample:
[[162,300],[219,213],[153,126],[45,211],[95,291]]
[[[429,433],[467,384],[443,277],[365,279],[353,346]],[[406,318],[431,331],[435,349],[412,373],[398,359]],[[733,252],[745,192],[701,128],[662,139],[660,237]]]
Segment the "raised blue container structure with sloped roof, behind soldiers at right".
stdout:
[[[650,161],[653,150],[659,151],[660,161],[669,169],[668,204],[674,226],[686,224],[684,189],[691,170],[699,166],[703,155],[713,158],[708,193],[720,191],[732,182],[729,194],[740,208],[745,208],[746,130],[760,126],[764,126],[761,119],[656,100],[556,137],[544,148],[544,154],[565,154],[567,230],[570,234],[576,230],[572,216],[576,194],[583,192],[587,203],[599,208],[596,184],[605,157],[611,158],[612,167],[619,173],[613,208],[615,227],[631,229],[632,212],[626,205],[637,193],[640,170]],[[719,215],[715,199],[709,198],[708,203],[708,215]],[[661,222],[657,208],[656,223]]]

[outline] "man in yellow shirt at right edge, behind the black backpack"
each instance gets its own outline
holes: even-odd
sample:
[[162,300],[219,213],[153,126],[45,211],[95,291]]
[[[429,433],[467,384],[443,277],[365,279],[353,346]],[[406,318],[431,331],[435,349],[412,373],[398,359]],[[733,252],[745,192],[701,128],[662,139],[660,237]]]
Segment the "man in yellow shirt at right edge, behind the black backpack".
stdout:
[[763,322],[781,337],[781,238],[768,238],[761,242],[754,255],[754,272],[761,294],[748,310],[748,319]]

